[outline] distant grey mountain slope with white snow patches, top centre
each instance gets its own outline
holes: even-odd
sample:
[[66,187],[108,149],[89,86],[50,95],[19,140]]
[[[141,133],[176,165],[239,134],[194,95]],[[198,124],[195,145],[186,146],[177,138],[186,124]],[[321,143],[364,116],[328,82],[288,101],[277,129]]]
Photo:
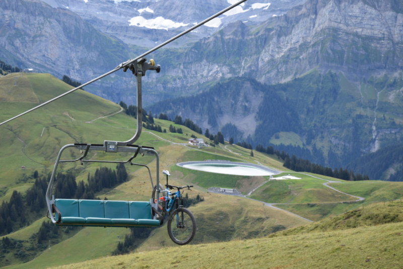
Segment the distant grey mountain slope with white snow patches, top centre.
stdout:
[[[127,44],[154,47],[190,28],[236,0],[156,1],[156,0],[43,0],[54,8],[64,8],[80,15],[99,31]],[[180,47],[207,37],[227,24],[243,21],[258,24],[279,16],[304,0],[248,0],[213,22],[189,33],[169,46]]]

